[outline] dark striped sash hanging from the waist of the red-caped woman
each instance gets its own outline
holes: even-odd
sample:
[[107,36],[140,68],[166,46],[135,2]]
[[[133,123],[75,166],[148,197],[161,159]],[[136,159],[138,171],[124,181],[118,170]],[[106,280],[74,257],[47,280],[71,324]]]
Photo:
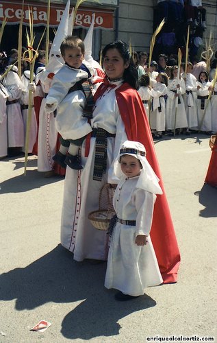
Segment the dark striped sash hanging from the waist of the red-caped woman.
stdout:
[[107,167],[107,137],[115,137],[115,134],[105,131],[103,128],[93,128],[92,137],[96,137],[93,180],[101,181]]

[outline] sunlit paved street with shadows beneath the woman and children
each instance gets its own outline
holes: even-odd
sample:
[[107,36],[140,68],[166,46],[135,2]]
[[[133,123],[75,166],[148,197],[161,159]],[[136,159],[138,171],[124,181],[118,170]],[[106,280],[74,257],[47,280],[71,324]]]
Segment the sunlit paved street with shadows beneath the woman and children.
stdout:
[[[26,176],[23,156],[1,160],[0,342],[214,337],[217,189],[203,184],[208,143],[202,134],[155,142],[181,251],[179,278],[126,303],[103,286],[106,263],[77,263],[60,246],[64,178],[44,178],[36,156],[29,157]],[[29,331],[40,320],[51,327]]]

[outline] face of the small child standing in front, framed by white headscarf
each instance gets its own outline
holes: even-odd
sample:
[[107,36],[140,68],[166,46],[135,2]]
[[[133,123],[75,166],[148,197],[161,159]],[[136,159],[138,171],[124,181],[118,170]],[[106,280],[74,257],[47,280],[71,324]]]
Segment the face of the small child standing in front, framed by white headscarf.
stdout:
[[123,155],[120,158],[120,169],[127,178],[133,178],[140,175],[140,161],[134,156]]

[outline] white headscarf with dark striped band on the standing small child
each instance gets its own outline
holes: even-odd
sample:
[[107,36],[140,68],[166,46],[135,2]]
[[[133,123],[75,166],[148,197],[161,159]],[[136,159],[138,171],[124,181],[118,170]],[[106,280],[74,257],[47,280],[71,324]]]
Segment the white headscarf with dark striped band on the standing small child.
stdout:
[[120,156],[123,155],[131,155],[136,157],[142,164],[142,169],[136,184],[136,188],[141,188],[154,194],[163,193],[161,187],[159,186],[159,178],[157,178],[157,175],[146,159],[146,150],[142,143],[134,141],[125,141],[125,143],[123,143],[120,148],[118,159],[114,163],[114,174],[118,178],[123,177],[123,172],[120,169],[119,163]]

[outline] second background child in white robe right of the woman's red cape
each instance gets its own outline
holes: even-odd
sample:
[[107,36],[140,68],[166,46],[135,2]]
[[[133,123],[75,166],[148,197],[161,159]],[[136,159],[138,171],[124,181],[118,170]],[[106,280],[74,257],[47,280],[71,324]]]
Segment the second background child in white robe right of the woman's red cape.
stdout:
[[150,125],[154,138],[162,138],[166,125],[166,104],[164,96],[167,92],[168,76],[159,73],[153,86],[153,99],[151,102]]

